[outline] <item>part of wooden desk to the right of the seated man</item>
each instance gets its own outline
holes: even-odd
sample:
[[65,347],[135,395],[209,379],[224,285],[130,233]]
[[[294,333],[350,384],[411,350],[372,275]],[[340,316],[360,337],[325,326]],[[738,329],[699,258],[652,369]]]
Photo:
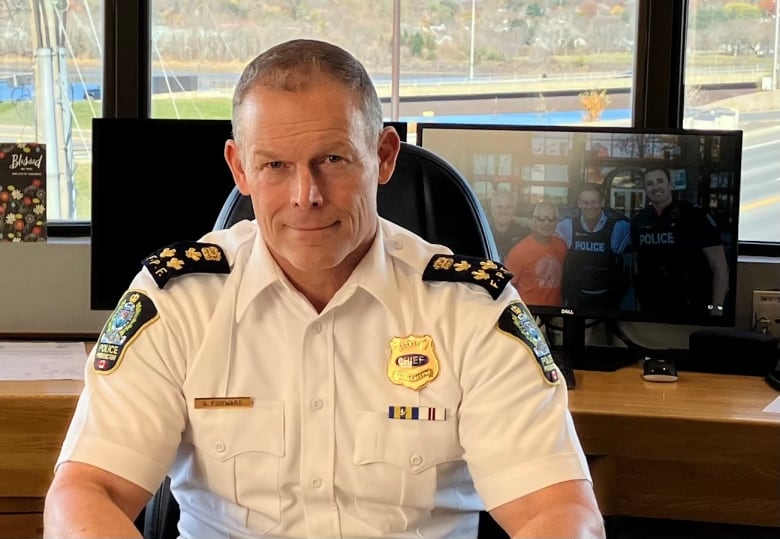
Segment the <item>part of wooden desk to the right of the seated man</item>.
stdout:
[[604,514],[780,527],[779,396],[763,378],[577,371],[569,407]]

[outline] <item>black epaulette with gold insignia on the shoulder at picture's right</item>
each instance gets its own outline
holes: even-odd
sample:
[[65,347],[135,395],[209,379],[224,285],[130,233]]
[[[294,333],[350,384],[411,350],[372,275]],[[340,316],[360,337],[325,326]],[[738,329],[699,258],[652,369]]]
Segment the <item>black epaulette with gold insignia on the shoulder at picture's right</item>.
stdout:
[[512,273],[500,263],[476,256],[433,255],[423,271],[423,281],[478,284],[493,299],[501,295],[511,279]]

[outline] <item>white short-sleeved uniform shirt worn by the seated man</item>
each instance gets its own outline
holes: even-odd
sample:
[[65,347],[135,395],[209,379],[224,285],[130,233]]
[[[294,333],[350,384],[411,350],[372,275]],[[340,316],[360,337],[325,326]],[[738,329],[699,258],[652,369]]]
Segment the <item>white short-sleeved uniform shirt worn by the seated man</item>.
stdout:
[[[92,367],[93,350],[58,462],[150,492],[169,473],[188,539],[475,537],[483,507],[590,479],[565,384],[497,329],[518,300],[511,286],[494,300],[476,284],[424,282],[432,255],[449,251],[382,220],[317,313],[255,222],[202,241],[221,245],[232,271],[164,289],[138,274],[131,289],[156,318],[110,372]],[[391,353],[394,338],[432,343],[422,355],[439,372],[425,387],[391,382],[424,346]],[[391,406],[446,419],[395,419]]]

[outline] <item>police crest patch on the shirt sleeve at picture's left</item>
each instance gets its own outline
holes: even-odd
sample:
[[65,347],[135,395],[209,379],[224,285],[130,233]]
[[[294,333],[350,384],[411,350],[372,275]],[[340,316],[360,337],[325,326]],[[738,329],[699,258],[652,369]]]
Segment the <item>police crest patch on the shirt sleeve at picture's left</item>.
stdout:
[[93,369],[101,374],[115,371],[127,346],[158,318],[157,307],[146,294],[140,290],[125,292],[100,332]]

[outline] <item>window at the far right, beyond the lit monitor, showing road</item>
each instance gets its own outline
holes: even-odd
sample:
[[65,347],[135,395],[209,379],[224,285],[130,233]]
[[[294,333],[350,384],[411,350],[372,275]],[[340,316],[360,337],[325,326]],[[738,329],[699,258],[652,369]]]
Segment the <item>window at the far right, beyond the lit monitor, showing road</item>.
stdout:
[[741,242],[780,240],[778,9],[775,0],[688,3],[683,126],[743,130]]

